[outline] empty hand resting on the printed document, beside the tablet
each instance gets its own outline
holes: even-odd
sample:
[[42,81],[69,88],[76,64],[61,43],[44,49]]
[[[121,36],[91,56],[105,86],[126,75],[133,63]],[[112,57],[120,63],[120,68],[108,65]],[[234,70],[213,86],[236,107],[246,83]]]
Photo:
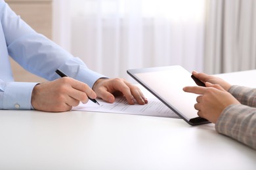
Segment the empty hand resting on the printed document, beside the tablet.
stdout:
[[97,97],[108,103],[115,101],[115,95],[124,95],[129,105],[134,105],[135,100],[139,105],[148,103],[148,100],[137,86],[122,78],[100,78],[95,82],[93,90]]

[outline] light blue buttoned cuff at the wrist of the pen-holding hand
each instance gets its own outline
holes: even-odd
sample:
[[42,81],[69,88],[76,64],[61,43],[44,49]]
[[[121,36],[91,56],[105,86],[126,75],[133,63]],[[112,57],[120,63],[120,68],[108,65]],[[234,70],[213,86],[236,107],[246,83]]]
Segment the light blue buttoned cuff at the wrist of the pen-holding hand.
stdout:
[[7,82],[3,95],[3,109],[33,109],[32,90],[36,82]]

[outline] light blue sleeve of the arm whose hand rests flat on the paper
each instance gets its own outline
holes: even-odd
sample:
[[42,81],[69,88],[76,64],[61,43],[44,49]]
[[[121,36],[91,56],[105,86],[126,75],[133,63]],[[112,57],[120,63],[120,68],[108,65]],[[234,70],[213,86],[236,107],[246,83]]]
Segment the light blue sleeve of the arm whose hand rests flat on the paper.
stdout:
[[56,69],[85,82],[91,88],[98,78],[106,77],[92,71],[47,37],[35,32],[6,3],[1,4],[1,24],[9,55],[24,69],[47,80],[59,78]]

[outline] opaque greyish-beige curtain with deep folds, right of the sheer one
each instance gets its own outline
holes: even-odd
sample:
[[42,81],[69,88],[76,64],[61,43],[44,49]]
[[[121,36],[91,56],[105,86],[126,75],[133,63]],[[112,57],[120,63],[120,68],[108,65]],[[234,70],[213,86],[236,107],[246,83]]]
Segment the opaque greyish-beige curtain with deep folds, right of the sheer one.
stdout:
[[256,1],[207,0],[205,72],[256,69]]

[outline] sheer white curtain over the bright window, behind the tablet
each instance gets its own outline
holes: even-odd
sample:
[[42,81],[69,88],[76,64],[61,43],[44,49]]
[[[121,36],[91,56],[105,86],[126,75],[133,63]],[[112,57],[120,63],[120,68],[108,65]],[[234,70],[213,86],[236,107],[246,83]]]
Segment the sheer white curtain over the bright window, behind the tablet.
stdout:
[[53,40],[110,77],[182,65],[203,71],[203,0],[54,0]]

